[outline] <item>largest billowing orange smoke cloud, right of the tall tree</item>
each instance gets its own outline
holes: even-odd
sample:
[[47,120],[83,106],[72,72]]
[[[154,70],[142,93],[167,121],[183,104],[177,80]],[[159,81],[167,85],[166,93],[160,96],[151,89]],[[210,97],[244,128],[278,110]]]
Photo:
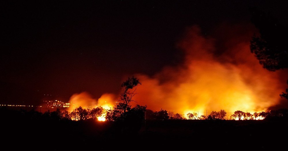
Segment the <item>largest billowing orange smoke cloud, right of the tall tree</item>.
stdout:
[[259,64],[249,48],[253,30],[240,27],[222,29],[221,51],[217,39],[202,36],[197,26],[189,28],[177,45],[185,52],[183,64],[165,67],[153,77],[135,75],[142,85],[134,100],[154,111],[185,114],[220,109],[254,113],[278,104],[287,87],[286,80],[279,80],[283,71],[268,71]]

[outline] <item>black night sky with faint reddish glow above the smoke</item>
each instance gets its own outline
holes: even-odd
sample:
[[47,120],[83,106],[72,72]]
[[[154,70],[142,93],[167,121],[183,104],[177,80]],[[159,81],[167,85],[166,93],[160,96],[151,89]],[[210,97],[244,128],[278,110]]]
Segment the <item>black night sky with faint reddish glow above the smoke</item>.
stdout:
[[123,78],[180,63],[186,27],[249,23],[250,7],[287,24],[287,1],[2,1],[0,104],[117,93]]

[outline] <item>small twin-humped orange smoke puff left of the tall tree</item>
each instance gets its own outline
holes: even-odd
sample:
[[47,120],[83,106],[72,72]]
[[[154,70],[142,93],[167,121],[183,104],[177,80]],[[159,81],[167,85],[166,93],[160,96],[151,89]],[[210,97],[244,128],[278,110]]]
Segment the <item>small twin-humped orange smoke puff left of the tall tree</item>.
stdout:
[[103,107],[104,109],[110,109],[113,107],[115,102],[115,95],[114,94],[103,94],[98,100],[92,98],[92,96],[87,92],[76,93],[70,97],[70,107],[68,110],[73,110],[77,107],[83,108],[96,108],[96,107]]

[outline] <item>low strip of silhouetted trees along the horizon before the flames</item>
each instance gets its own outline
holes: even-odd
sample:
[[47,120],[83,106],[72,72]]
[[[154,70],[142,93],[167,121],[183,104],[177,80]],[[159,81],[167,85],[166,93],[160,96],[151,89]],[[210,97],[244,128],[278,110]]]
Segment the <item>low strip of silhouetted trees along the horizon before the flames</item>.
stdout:
[[[128,109],[125,113],[118,111],[119,109],[105,110],[102,107],[93,109],[85,109],[78,107],[72,112],[66,110],[46,111],[40,113],[34,109],[27,111],[25,109],[14,110],[7,107],[0,107],[3,119],[15,120],[62,120],[62,121],[83,121],[97,120],[98,117],[106,118],[106,121],[144,121],[144,120],[179,120],[179,119],[195,119],[195,120],[225,120],[227,113],[225,110],[218,112],[212,111],[209,115],[199,116],[196,112],[184,114],[169,112],[166,110],[152,111],[146,109],[145,106],[136,105],[132,109]],[[256,120],[256,119],[287,119],[288,109],[268,110],[255,112],[253,114],[243,111],[235,111],[229,119],[231,120]]]

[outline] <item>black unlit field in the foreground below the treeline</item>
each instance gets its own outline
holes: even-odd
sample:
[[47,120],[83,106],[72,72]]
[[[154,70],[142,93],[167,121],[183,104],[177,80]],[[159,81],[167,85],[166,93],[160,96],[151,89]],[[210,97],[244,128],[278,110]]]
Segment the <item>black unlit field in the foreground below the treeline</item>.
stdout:
[[[1,115],[3,116],[3,115]],[[8,150],[287,150],[287,119],[100,121],[1,121]]]

